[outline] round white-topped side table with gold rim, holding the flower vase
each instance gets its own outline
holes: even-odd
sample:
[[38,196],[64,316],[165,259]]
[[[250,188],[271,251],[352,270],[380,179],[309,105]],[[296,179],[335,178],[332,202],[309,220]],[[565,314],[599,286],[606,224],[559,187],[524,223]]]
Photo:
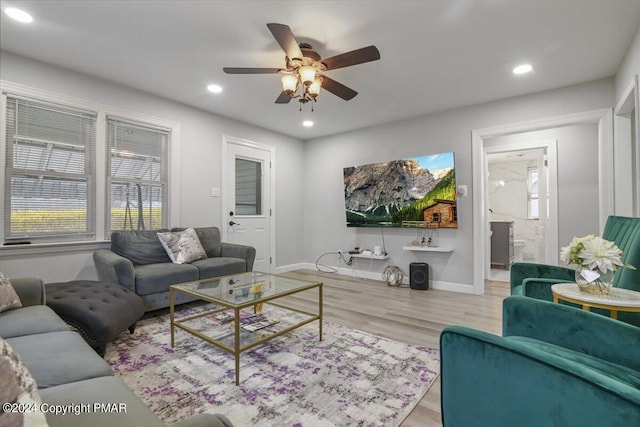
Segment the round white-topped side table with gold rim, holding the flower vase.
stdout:
[[618,318],[619,311],[640,313],[640,292],[629,289],[611,288],[608,295],[599,295],[580,291],[576,283],[556,283],[551,286],[551,293],[555,303],[572,302],[585,311],[603,308],[609,310],[612,319]]

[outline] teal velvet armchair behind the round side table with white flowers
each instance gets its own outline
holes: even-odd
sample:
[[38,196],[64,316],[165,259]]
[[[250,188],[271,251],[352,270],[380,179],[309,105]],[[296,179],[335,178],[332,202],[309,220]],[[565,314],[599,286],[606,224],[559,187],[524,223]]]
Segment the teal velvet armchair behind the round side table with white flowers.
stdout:
[[[622,261],[636,267],[616,271],[613,286],[640,291],[640,218],[610,216],[602,238],[615,242],[624,253]],[[571,268],[522,262],[511,265],[511,295],[553,301],[551,286],[554,283],[574,281],[575,270]],[[639,313],[620,313],[618,319],[640,326]]]

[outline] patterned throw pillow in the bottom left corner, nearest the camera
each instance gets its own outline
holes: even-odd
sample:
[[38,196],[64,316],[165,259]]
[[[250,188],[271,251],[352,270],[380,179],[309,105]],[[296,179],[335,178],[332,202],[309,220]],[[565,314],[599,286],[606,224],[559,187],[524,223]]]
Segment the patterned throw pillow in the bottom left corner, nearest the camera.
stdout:
[[[2,426],[46,427],[42,399],[33,376],[8,342],[0,338],[0,411]],[[9,410],[8,410],[9,409]]]

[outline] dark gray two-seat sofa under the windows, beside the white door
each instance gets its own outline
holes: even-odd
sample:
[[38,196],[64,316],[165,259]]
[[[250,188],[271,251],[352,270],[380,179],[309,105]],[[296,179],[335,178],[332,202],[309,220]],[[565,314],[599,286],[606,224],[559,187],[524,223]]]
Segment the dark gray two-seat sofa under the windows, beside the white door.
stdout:
[[[119,283],[144,301],[145,311],[169,307],[169,286],[198,279],[253,270],[255,248],[220,241],[217,227],[195,228],[207,258],[190,264],[174,264],[158,239],[158,231],[115,231],[111,250],[95,251],[93,259],[100,280]],[[192,301],[176,295],[176,303]]]

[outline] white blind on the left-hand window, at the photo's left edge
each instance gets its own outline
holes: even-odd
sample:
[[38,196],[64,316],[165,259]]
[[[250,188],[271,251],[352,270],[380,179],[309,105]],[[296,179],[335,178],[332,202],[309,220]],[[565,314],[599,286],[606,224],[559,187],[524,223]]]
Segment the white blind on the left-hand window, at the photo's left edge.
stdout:
[[94,112],[7,96],[5,238],[92,235]]

